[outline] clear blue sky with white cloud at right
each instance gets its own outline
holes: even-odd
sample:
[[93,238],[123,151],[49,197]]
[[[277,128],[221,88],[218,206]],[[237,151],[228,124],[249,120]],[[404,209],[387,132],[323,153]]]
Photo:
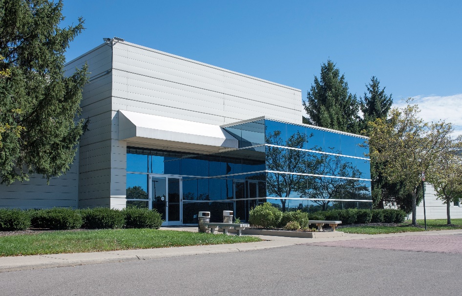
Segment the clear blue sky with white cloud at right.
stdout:
[[397,105],[414,97],[425,120],[462,134],[462,1],[64,0],[63,15],[86,27],[67,60],[116,36],[305,98],[332,59],[358,97],[374,75]]

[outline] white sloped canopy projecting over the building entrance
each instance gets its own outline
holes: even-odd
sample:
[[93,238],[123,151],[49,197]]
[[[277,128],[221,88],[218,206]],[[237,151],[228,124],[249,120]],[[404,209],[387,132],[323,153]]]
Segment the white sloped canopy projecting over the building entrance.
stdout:
[[125,110],[119,110],[119,140],[205,151],[239,147],[218,125]]

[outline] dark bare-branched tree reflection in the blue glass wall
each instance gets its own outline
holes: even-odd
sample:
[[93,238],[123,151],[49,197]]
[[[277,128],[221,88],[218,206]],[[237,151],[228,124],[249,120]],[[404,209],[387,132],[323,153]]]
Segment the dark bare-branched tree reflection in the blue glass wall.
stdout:
[[[311,137],[310,137],[311,138]],[[308,137],[296,131],[283,140],[278,130],[266,133],[266,143],[292,148],[307,148]],[[319,151],[314,145],[309,150]],[[310,146],[311,146],[310,145]],[[356,158],[347,158],[325,153],[311,153],[298,149],[288,149],[274,146],[266,147],[266,165],[268,171],[313,174],[306,176],[298,174],[268,173],[267,194],[279,197],[282,211],[286,210],[289,197],[310,198],[326,210],[332,200],[327,199],[358,199],[369,192],[362,178],[363,173],[357,168]],[[336,147],[329,147],[330,153],[337,153]],[[332,176],[332,177],[321,177]],[[343,177],[343,178],[335,178]],[[355,179],[352,179],[355,178]]]

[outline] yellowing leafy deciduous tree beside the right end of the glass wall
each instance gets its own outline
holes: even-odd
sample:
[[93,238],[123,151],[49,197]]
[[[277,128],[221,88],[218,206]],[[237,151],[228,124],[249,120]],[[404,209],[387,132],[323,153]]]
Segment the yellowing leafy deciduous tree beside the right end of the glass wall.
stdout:
[[412,224],[416,224],[416,208],[421,196],[421,174],[441,160],[450,143],[452,125],[444,121],[423,122],[419,107],[408,99],[404,108],[393,108],[389,119],[370,122],[370,155],[378,162],[387,162],[383,175],[390,182],[400,182],[412,204]]

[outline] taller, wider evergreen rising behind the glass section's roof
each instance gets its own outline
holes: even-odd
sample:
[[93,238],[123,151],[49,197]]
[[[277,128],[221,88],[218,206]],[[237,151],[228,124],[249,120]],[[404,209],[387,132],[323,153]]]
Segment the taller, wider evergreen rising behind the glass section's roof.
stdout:
[[359,132],[359,102],[356,95],[348,92],[345,76],[332,60],[321,65],[319,79],[308,91],[307,100],[303,102],[308,115],[308,124],[331,128],[339,131]]

